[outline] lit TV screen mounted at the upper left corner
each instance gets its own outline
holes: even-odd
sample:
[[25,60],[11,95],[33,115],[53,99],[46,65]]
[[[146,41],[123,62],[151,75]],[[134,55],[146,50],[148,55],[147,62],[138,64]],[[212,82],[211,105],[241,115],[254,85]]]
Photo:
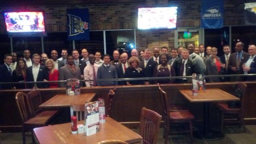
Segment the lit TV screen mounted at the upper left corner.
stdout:
[[4,12],[8,33],[45,32],[43,12]]

